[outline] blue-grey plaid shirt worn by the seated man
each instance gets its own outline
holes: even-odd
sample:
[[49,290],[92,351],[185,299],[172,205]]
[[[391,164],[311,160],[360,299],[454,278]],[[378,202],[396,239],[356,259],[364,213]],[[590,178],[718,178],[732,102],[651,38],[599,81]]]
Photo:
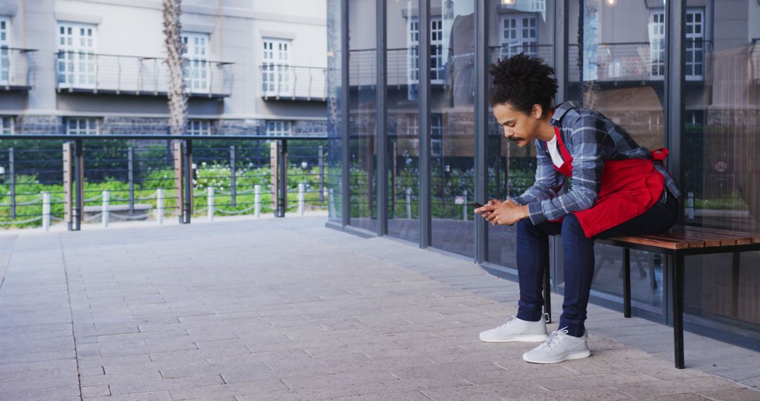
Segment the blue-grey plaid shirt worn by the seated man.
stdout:
[[[554,169],[546,142],[536,140],[536,182],[524,194],[512,198],[518,205],[527,204],[534,224],[593,207],[601,188],[605,160],[651,159],[649,150],[638,146],[628,132],[600,112],[582,109],[575,102],[562,103],[551,124],[559,128],[562,142],[572,155],[572,188],[559,194],[565,176]],[[670,192],[680,197],[665,166],[662,163],[654,166],[665,177]]]

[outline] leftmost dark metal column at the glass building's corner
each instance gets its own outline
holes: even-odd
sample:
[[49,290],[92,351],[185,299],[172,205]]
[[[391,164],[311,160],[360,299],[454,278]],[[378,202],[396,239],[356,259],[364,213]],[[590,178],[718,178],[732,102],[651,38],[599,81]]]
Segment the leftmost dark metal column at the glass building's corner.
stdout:
[[341,223],[348,226],[351,213],[351,176],[350,176],[350,132],[349,132],[349,96],[350,87],[348,81],[348,0],[340,0],[340,210]]

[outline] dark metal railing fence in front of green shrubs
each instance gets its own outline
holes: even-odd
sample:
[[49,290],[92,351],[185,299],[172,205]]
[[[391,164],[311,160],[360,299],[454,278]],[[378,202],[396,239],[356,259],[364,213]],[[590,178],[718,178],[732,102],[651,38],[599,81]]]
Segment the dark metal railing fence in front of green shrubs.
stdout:
[[[166,140],[27,142],[34,149],[16,142],[0,150],[0,228],[169,216],[189,223],[191,216],[284,216],[328,206],[324,140],[180,143],[182,160]],[[186,166],[178,169],[178,161]]]

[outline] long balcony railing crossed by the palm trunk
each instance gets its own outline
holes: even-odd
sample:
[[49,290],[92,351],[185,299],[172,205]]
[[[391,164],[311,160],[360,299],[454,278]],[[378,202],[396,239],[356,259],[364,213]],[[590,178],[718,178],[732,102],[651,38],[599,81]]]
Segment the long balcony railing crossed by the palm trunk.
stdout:
[[[183,75],[188,96],[230,96],[233,63],[186,59]],[[166,96],[169,68],[163,58],[106,55],[89,52],[55,53],[55,80],[60,92]]]

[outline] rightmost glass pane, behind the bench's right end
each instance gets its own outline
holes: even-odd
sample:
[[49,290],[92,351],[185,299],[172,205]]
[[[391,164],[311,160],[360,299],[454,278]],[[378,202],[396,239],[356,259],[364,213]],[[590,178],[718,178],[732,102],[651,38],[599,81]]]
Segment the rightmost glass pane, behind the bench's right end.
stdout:
[[[684,219],[760,232],[760,4],[689,8],[684,33]],[[732,254],[686,257],[686,265],[687,313],[760,324],[760,252],[738,260]]]

